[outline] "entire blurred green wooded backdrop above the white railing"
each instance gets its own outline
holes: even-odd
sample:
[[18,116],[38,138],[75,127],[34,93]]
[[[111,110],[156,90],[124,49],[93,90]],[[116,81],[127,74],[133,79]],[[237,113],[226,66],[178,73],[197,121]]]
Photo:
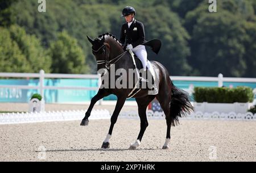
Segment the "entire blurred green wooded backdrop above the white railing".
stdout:
[[35,0],[0,1],[0,26],[7,32],[0,35],[9,40],[0,47],[5,56],[15,54],[2,53],[1,61],[19,57],[27,63],[13,71],[38,72],[43,67],[54,73],[96,73],[86,35],[109,32],[119,37],[125,22],[121,11],[129,5],[137,10],[135,18],[143,22],[146,39],[162,40],[157,56],[148,49],[148,59],[162,62],[171,75],[255,77],[254,0],[217,1],[213,13],[204,0],[46,2],[46,12],[38,12]]

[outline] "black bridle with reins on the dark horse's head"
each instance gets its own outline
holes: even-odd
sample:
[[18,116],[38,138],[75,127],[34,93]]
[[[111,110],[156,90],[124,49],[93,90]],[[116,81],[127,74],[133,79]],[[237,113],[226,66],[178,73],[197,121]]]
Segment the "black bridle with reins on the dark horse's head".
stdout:
[[[108,70],[110,69],[110,67],[111,67],[113,64],[115,64],[115,62],[119,61],[119,60],[123,57],[123,55],[127,52],[127,50],[126,50],[125,52],[119,54],[117,57],[113,58],[112,60],[108,60],[109,52],[106,51],[106,46],[105,46],[105,44],[103,44],[103,45],[102,45],[100,48],[98,48],[97,50],[93,50],[93,49],[92,49],[92,51],[93,51],[94,53],[98,53],[98,52],[100,52],[100,50],[101,50],[102,48],[104,48],[105,60],[98,60],[98,61],[97,61],[97,65],[105,64],[105,67],[106,67],[106,69],[108,69]],[[116,61],[115,61],[115,60],[116,60]],[[114,62],[113,62],[113,61],[114,61]]]

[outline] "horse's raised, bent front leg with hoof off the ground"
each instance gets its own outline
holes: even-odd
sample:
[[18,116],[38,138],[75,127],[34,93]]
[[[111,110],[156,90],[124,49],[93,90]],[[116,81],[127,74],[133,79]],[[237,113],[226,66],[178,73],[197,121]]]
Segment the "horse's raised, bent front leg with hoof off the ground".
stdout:
[[92,112],[93,106],[96,102],[98,102],[98,100],[104,98],[105,96],[108,96],[109,93],[104,89],[100,89],[98,90],[97,94],[92,98],[92,100],[90,100],[90,106],[87,109],[86,113],[85,113],[85,117],[84,119],[82,119],[81,124],[80,125],[88,125],[89,123],[89,116],[90,116],[90,112]]

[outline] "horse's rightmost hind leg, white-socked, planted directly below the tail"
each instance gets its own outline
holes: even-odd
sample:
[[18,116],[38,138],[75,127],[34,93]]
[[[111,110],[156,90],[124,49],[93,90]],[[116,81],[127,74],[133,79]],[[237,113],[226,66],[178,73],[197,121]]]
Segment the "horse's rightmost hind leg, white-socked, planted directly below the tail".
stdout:
[[159,94],[156,96],[160,106],[162,107],[164,114],[166,115],[166,142],[164,142],[162,149],[169,149],[169,144],[171,140],[171,117],[170,117],[170,102],[171,102],[171,90],[166,88],[166,90],[159,90]]

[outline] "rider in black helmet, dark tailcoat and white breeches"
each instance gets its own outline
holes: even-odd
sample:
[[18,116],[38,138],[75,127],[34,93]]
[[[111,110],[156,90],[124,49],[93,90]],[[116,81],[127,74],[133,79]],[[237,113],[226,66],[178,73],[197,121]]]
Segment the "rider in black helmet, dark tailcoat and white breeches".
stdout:
[[[142,22],[135,20],[136,11],[131,6],[126,6],[122,11],[126,23],[122,25],[120,41],[126,50],[133,50],[139,60],[142,62],[143,71],[147,71],[147,50],[143,41],[145,41],[145,32]],[[125,44],[126,42],[126,44]]]

